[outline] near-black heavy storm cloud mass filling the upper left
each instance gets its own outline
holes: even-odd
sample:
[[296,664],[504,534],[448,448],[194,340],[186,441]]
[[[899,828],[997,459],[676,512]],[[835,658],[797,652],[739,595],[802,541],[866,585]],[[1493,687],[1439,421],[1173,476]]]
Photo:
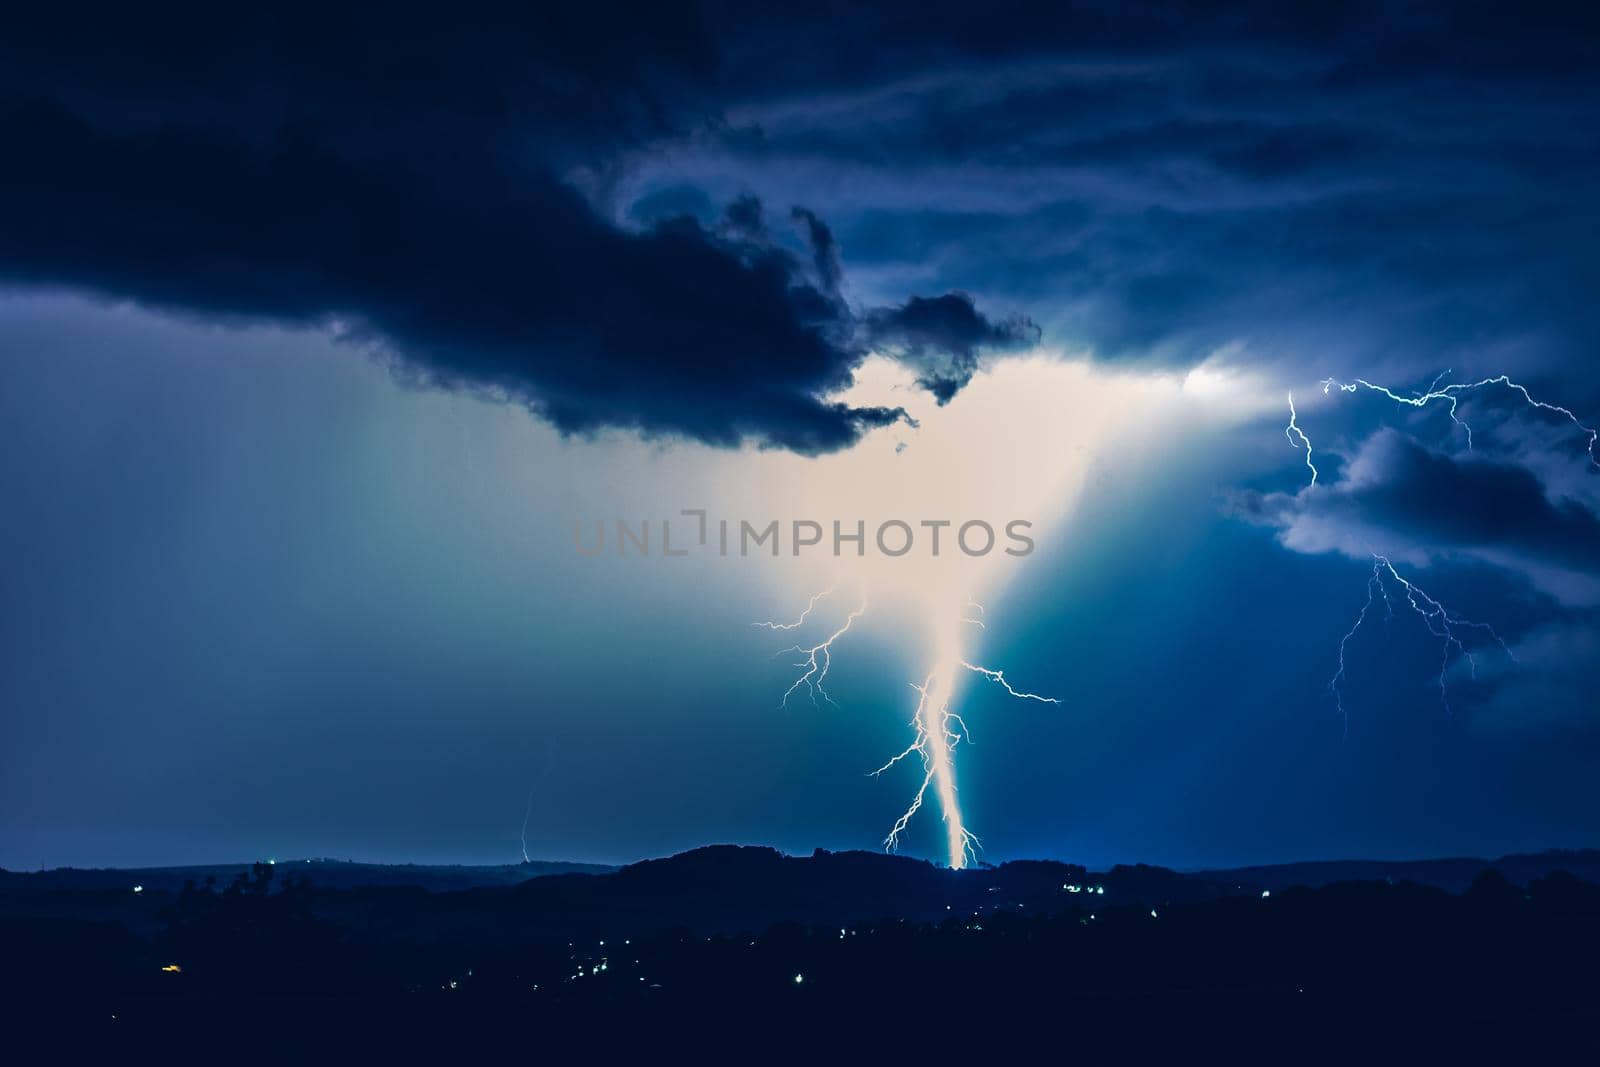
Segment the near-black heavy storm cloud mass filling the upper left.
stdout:
[[754,197],[605,214],[621,149],[715,109],[696,10],[469,6],[22,19],[0,280],[333,328],[563,432],[821,453],[904,418],[829,400],[866,349],[818,216],[798,258]]

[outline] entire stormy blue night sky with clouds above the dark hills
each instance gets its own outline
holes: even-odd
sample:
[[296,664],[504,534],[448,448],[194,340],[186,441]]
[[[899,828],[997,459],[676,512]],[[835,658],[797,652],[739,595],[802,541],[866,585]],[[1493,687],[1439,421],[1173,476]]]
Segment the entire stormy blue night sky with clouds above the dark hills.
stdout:
[[1600,18],[864,6],[8,18],[0,865],[1600,843]]

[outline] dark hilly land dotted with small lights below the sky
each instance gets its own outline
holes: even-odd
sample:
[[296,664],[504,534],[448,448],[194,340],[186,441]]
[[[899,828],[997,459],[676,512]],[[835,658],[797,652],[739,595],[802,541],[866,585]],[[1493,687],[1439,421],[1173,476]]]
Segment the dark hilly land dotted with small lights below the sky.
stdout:
[[0,1011],[62,1054],[1595,1062],[1600,854],[1434,864],[1309,865],[1315,888],[758,848],[432,889],[0,875]]

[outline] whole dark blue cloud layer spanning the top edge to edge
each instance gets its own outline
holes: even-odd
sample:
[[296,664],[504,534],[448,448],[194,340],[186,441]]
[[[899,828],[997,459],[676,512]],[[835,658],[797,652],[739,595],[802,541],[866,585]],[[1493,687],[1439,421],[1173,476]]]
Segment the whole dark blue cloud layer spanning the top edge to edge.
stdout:
[[840,448],[896,418],[827,400],[872,344],[942,402],[1034,323],[1294,373],[1600,344],[1589,10],[51,11],[0,35],[0,278],[338,323],[563,430]]

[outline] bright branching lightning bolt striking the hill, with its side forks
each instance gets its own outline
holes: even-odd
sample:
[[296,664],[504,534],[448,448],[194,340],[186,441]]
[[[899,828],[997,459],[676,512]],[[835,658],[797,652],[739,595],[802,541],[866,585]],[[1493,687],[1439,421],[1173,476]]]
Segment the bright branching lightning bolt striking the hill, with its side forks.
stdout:
[[[816,601],[822,595],[826,593],[818,593],[811,598],[811,603],[806,606],[806,611],[800,616],[798,622],[805,622],[806,614],[810,614],[811,608],[816,606]],[[802,685],[808,686],[813,702],[816,701],[816,696],[821,694],[822,699],[837,707],[837,702],[822,688],[832,657],[832,646],[835,640],[850,630],[851,624],[861,617],[866,609],[867,601],[866,597],[862,597],[861,606],[850,613],[843,625],[834,630],[827,640],[810,648],[795,645],[784,649],[800,653],[803,656],[803,659],[795,664],[803,669],[802,675],[795,678],[794,685],[790,685],[784,693],[782,704],[786,707],[789,697]],[[955,701],[958,672],[965,669],[973,673],[981,673],[990,681],[1000,685],[1010,696],[1019,701],[1037,701],[1040,704],[1061,702],[1056,697],[1021,691],[1006,681],[1003,670],[982,667],[963,657],[958,640],[960,627],[962,624],[971,624],[984,629],[982,621],[978,617],[981,614],[984,614],[984,606],[976,600],[968,598],[966,611],[950,613],[949,619],[941,616],[941,621],[938,622],[939,632],[936,635],[934,665],[920,683],[910,683],[910,688],[917,693],[917,707],[910,718],[914,731],[912,742],[891,757],[883,766],[870,773],[877,777],[909,757],[918,757],[922,761],[922,782],[918,784],[915,793],[912,793],[910,805],[899,816],[899,819],[894,821],[888,837],[883,838],[883,848],[888,851],[899,848],[901,835],[910,825],[910,821],[917,816],[917,813],[922,811],[922,806],[928,798],[928,790],[931,789],[939,798],[939,808],[944,817],[947,861],[952,869],[968,865],[981,846],[978,835],[966,829],[966,821],[962,816],[960,798],[955,787],[955,747],[962,741],[971,741],[966,733],[965,720],[952,707]],[[768,625],[770,629],[794,629],[786,624]]]

